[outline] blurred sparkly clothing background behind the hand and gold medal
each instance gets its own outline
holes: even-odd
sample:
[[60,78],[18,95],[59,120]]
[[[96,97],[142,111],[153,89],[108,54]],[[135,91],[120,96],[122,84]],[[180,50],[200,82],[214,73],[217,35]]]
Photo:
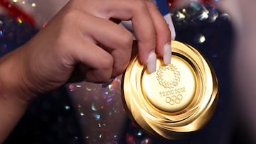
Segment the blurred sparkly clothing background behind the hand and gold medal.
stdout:
[[[0,0],[0,56],[26,43],[67,2]],[[80,82],[38,96],[4,144],[255,143],[255,2],[169,3],[176,40],[202,52],[218,77],[218,104],[201,131],[169,141],[144,133],[123,109],[120,76],[110,85]]]

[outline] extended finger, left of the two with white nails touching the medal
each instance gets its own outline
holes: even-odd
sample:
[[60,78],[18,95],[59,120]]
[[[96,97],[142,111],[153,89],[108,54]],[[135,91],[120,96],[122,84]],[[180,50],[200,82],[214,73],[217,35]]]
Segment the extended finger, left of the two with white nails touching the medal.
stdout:
[[[95,3],[97,1],[90,1],[90,4]],[[143,65],[147,65],[150,72],[154,72],[156,65],[156,31],[146,1],[110,0],[102,1],[101,6],[97,9],[90,9],[90,11],[81,7],[80,9],[100,18],[132,20],[139,45],[139,60]]]

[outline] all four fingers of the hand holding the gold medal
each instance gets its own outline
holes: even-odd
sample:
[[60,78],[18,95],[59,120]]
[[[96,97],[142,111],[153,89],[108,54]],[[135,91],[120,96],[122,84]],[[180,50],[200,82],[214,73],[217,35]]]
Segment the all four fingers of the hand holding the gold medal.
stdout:
[[[139,60],[143,65],[146,65],[149,72],[156,70],[156,52],[161,57],[164,57],[166,64],[171,60],[171,33],[163,16],[159,13],[155,4],[150,1],[143,0],[110,0],[110,1],[70,1],[79,11],[87,13],[86,18],[89,21],[80,23],[82,35],[91,40],[92,43],[100,43],[104,45],[105,52],[109,52],[112,56],[112,62],[106,62],[108,65],[112,63],[112,74],[107,72],[102,79],[117,76],[121,74],[129,62],[132,49],[132,34],[124,28],[117,26],[115,23],[108,21],[111,18],[118,20],[131,20],[134,33],[136,34],[139,47]],[[89,14],[90,13],[90,14]],[[100,48],[100,47],[98,47]],[[96,48],[95,48],[96,49]],[[92,55],[87,55],[92,57]],[[96,57],[96,55],[95,55]],[[98,61],[92,57],[91,60]],[[89,59],[85,59],[87,62]],[[93,67],[93,62],[90,66]],[[108,67],[110,68],[110,67]],[[105,67],[105,69],[107,69]],[[89,72],[90,77],[97,77],[104,70],[100,67],[93,67]],[[96,78],[95,78],[96,79]],[[100,79],[96,79],[99,81]]]

